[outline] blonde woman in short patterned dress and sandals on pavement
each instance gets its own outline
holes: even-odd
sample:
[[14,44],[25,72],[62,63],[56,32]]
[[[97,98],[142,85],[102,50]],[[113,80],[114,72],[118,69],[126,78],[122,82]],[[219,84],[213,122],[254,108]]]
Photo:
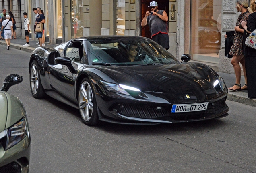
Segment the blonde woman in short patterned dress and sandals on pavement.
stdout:
[[[241,26],[241,22],[248,20],[248,16],[250,15],[250,12],[252,12],[252,9],[248,6],[247,0],[236,0],[235,4],[235,8],[238,12],[241,12],[241,14],[238,16],[237,22],[235,24],[234,42],[229,52],[230,55],[233,55],[231,59],[231,64],[233,65],[235,71],[235,85],[233,87],[229,87],[228,89],[233,91],[240,91],[247,89],[246,68],[244,62],[244,52],[242,48],[244,28]],[[243,87],[241,87],[240,83],[241,67],[239,65],[239,62],[242,64],[244,72],[245,85]]]

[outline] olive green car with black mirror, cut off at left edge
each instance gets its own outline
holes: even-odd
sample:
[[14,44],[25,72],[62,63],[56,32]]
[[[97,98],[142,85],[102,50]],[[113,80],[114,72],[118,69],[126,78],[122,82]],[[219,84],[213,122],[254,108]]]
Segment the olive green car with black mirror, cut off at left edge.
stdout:
[[6,77],[0,90],[0,173],[28,173],[30,133],[23,103],[6,91],[22,76]]

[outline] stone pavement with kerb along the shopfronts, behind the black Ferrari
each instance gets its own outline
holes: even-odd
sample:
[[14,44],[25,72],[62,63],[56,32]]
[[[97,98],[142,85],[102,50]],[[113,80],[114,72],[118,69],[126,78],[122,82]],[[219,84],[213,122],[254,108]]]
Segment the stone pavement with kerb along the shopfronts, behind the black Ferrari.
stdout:
[[[35,50],[35,48],[38,47],[38,44],[36,44],[37,42],[38,41],[35,41],[35,40],[29,40],[30,46],[25,47],[23,46],[24,44],[26,44],[25,38],[17,37],[17,39],[11,40],[10,49],[15,48],[15,49],[24,50],[27,52],[33,52],[33,50]],[[5,40],[0,40],[0,46],[6,46]],[[56,46],[56,44],[49,44],[45,42],[45,47],[53,48],[54,46]],[[218,74],[224,79],[227,87],[232,87],[235,84],[235,74],[227,74],[227,73],[221,73],[221,72],[218,72]],[[241,77],[241,84],[242,86],[244,85],[244,76]],[[247,95],[247,90],[244,90],[244,91],[229,90],[227,99],[256,107],[256,99],[249,99]]]

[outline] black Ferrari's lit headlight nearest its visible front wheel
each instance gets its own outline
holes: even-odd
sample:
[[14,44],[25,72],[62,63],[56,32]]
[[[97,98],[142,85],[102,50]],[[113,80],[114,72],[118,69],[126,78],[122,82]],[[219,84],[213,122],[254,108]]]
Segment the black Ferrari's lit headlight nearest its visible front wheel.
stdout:
[[105,87],[105,89],[107,91],[111,91],[111,92],[114,92],[114,93],[121,93],[121,94],[124,94],[124,95],[130,95],[129,93],[132,92],[132,91],[140,92],[139,89],[134,88],[134,87],[130,87],[130,86],[127,86],[127,85],[114,84],[114,83],[103,82],[103,81],[100,81],[100,82],[101,82],[101,84],[103,84],[103,86]]

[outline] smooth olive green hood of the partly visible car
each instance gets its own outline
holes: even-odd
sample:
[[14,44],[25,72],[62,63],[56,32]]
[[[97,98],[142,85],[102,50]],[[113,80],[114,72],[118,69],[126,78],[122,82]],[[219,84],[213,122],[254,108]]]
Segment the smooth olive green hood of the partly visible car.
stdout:
[[7,92],[0,92],[0,132],[4,131],[25,116],[21,101]]

